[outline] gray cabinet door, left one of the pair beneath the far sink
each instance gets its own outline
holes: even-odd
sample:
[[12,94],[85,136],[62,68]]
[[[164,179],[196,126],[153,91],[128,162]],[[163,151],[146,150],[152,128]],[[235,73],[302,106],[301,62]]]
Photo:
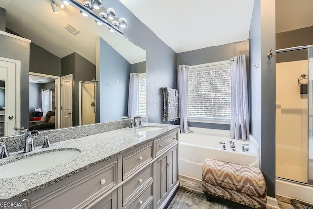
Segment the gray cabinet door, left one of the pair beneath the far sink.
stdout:
[[156,206],[159,208],[169,194],[169,160],[168,152],[157,159],[156,163]]

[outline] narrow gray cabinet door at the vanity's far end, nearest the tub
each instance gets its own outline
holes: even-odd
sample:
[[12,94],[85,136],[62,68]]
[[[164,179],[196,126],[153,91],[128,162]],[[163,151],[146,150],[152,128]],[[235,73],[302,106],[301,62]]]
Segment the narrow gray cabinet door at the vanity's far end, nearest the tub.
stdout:
[[169,152],[169,186],[170,191],[174,188],[178,181],[178,170],[177,170],[177,145],[170,149]]

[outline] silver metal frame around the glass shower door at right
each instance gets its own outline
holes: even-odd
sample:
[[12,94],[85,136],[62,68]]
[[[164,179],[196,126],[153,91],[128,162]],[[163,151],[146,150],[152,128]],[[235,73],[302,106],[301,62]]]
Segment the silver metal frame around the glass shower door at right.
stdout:
[[[313,186],[313,163],[309,163],[309,153],[313,153],[313,146],[309,146],[309,138],[313,138],[313,45],[298,46],[291,48],[283,48],[276,50],[276,53],[294,51],[299,49],[308,49],[308,183],[300,183],[288,179],[288,181],[295,182],[301,185]],[[310,91],[311,90],[311,91]],[[310,134],[311,130],[311,134]],[[311,174],[311,175],[310,175]],[[310,178],[310,176],[312,178]],[[279,177],[276,177],[279,178]],[[281,179],[281,178],[280,178]],[[286,179],[284,179],[286,180]]]

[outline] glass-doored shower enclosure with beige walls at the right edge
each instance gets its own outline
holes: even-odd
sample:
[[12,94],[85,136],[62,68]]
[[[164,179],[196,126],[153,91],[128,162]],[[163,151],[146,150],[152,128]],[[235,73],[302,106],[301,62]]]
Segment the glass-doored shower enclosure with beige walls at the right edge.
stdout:
[[313,185],[313,46],[276,51],[276,177]]

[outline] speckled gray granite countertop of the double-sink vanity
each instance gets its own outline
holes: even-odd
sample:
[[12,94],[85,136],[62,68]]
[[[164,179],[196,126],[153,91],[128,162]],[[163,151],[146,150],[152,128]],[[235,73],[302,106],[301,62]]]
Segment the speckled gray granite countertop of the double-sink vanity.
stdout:
[[22,151],[10,153],[10,157],[0,159],[0,165],[11,162],[12,159],[23,158],[43,151],[54,151],[58,149],[80,150],[80,154],[77,157],[66,163],[31,174],[0,179],[0,198],[22,198],[95,164],[108,160],[124,151],[152,141],[158,136],[179,127],[178,125],[167,124],[143,124],[143,126],[151,125],[159,126],[161,129],[156,131],[138,131],[138,127],[122,128],[53,143],[51,144],[51,148],[35,147],[35,151],[29,153],[23,153]]

